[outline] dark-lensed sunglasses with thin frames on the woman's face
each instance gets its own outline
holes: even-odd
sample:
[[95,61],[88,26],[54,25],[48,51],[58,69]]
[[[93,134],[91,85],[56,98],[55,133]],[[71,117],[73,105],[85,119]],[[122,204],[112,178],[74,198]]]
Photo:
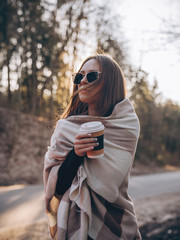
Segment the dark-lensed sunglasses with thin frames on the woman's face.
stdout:
[[92,83],[96,81],[100,77],[101,72],[94,71],[94,72],[89,72],[87,74],[82,74],[82,73],[74,73],[72,75],[73,83],[74,84],[80,84],[81,80],[86,76],[86,79],[88,83]]

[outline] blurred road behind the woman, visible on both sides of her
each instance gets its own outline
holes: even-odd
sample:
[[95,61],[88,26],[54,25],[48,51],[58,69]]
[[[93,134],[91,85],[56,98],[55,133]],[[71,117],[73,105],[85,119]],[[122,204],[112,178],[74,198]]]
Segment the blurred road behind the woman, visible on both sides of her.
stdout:
[[[180,172],[132,177],[129,192],[135,202],[140,226],[145,222],[154,221],[153,219],[164,221],[170,215],[174,217],[177,213]],[[20,233],[22,229],[27,233],[27,228],[31,231],[32,228],[37,228],[38,232],[44,229],[44,234],[45,232],[47,234],[45,222],[42,185],[0,187],[0,233],[10,234],[12,231]],[[4,238],[2,239],[4,240]],[[12,236],[6,239],[12,239]],[[31,236],[29,239],[36,238]],[[41,237],[39,236],[37,239],[41,239]]]

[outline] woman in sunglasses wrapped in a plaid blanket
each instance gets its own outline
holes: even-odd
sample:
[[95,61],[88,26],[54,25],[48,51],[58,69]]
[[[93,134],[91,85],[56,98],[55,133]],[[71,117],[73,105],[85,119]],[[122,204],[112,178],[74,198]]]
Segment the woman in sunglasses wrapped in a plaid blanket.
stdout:
[[[125,97],[119,65],[106,55],[87,58],[73,76],[71,103],[57,122],[45,156],[46,212],[54,239],[141,239],[127,193],[139,137],[139,121]],[[86,155],[98,146],[82,123],[105,126],[104,156]]]

